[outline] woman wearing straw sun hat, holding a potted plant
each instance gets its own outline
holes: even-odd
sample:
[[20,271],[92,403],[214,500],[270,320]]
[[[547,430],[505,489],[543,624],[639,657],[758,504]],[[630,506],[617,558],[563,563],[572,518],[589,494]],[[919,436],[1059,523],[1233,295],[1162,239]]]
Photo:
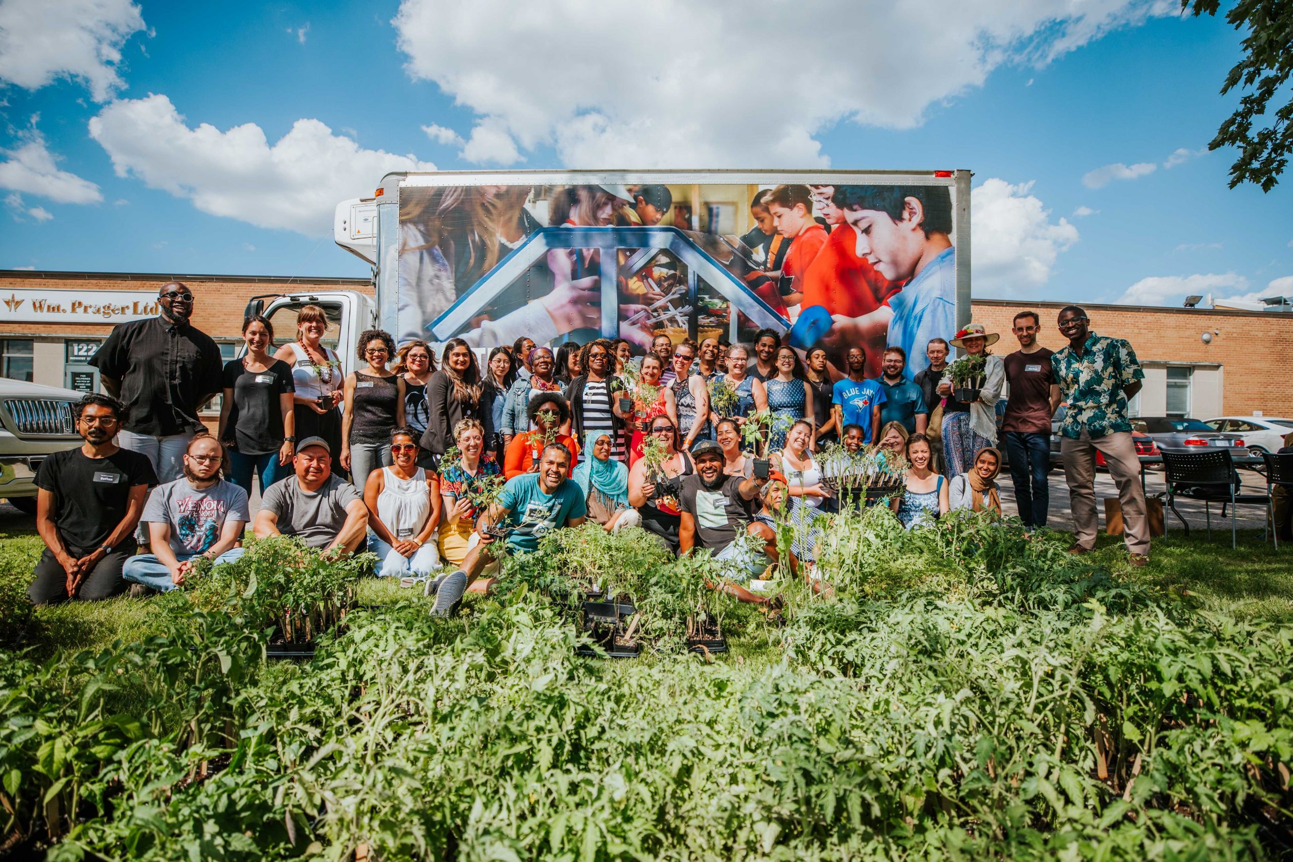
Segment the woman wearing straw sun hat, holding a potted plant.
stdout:
[[1006,383],[1006,366],[999,356],[988,353],[988,348],[999,338],[983,324],[970,324],[952,339],[952,346],[963,349],[967,357],[984,355],[987,362],[983,387],[972,401],[962,401],[953,393],[952,369],[956,362],[948,365],[939,382],[939,395],[946,399],[943,404],[943,457],[948,479],[970,470],[975,452],[997,445],[996,408]]

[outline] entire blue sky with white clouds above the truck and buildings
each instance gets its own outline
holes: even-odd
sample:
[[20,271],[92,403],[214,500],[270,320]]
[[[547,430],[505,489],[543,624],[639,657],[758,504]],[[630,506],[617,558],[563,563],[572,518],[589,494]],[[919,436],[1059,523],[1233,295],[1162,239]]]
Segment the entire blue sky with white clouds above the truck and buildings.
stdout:
[[432,164],[966,167],[976,296],[1293,294],[1289,181],[1205,151],[1240,35],[1162,0],[53,5],[0,0],[0,268],[363,276],[332,204]]

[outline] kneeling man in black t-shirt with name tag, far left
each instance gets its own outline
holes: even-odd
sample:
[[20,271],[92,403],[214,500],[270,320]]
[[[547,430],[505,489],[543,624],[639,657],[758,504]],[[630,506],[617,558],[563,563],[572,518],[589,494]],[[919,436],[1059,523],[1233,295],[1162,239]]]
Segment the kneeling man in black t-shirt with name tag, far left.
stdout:
[[76,431],[85,443],[49,456],[36,472],[36,529],[45,553],[27,588],[34,604],[105,599],[124,586],[122,566],[134,553],[131,535],[149,487],[158,483],[147,458],[112,443],[125,415],[116,399],[87,395],[76,405]]

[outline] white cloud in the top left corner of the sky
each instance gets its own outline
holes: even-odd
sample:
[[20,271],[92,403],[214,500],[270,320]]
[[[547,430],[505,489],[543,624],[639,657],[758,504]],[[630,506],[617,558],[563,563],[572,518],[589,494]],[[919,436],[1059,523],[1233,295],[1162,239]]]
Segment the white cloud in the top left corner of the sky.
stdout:
[[0,80],[39,89],[56,78],[81,80],[97,102],[124,85],[122,45],[144,30],[131,0],[4,0]]

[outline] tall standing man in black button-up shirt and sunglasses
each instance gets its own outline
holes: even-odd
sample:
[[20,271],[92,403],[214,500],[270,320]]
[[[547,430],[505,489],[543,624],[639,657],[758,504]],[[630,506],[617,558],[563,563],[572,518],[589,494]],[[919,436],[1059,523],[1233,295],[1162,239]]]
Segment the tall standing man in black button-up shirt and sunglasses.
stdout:
[[185,285],[162,285],[158,308],[156,317],[114,326],[89,364],[103,390],[125,403],[118,443],[145,454],[162,481],[175,481],[203,427],[198,410],[220,392],[224,362],[216,342],[189,322],[193,291]]

